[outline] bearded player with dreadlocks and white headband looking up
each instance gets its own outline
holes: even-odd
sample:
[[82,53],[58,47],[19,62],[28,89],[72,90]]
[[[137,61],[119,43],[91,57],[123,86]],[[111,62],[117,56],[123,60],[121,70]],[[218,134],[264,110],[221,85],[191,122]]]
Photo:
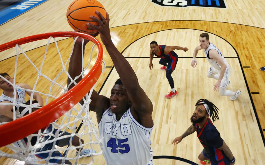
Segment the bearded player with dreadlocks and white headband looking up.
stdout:
[[199,99],[195,106],[194,113],[190,118],[192,125],[183,135],[176,137],[172,141],[172,144],[178,144],[184,137],[196,131],[197,137],[204,147],[202,153],[200,153],[198,157],[202,164],[235,164],[236,159],[231,150],[220,137],[220,133],[213,125],[211,119],[209,119],[210,116],[213,121],[219,120],[219,109],[206,99]]

